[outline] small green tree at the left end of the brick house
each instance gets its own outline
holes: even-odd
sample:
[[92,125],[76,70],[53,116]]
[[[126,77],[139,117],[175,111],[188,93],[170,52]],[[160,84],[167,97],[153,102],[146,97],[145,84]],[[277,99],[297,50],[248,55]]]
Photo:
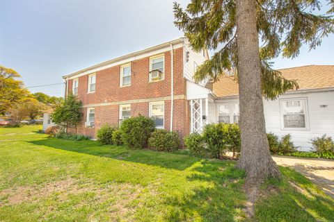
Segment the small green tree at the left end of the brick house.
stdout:
[[63,126],[67,132],[68,127],[74,127],[77,132],[77,125],[82,119],[81,110],[82,103],[70,94],[65,101],[56,107],[52,114],[52,121]]

